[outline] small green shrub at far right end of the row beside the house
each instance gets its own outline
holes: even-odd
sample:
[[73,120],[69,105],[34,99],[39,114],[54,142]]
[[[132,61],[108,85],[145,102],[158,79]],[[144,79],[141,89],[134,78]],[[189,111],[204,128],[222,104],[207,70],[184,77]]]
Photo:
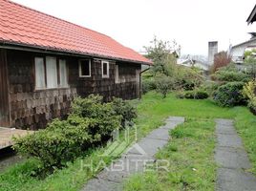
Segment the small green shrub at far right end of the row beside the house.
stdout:
[[137,109],[130,103],[130,101],[114,97],[112,108],[116,116],[121,116],[121,125],[123,127],[125,121],[130,122],[137,117]]

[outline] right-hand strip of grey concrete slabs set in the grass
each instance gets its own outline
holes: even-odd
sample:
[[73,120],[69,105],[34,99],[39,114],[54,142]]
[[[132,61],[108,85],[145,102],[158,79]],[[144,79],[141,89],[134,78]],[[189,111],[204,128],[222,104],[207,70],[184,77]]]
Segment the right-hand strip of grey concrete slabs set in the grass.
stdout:
[[251,168],[242,139],[237,135],[232,120],[216,119],[217,147],[215,159],[217,191],[256,191],[256,178],[246,172]]

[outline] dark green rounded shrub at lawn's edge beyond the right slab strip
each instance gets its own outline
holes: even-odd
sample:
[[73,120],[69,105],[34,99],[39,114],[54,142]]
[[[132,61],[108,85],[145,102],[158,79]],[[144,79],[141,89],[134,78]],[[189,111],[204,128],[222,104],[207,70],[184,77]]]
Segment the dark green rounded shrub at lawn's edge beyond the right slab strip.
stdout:
[[243,96],[243,82],[229,82],[218,88],[214,93],[214,100],[220,106],[233,107],[236,105],[245,105],[245,96]]

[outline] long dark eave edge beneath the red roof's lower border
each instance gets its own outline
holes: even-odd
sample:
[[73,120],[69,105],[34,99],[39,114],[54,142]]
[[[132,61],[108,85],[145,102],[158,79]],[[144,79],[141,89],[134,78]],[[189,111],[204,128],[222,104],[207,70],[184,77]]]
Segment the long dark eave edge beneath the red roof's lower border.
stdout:
[[0,41],[0,48],[16,50],[16,51],[33,52],[33,53],[50,53],[50,54],[69,55],[69,56],[76,56],[76,57],[92,57],[92,58],[98,58],[98,59],[108,59],[108,60],[114,60],[114,61],[129,62],[129,63],[141,64],[141,65],[153,64],[152,62],[141,62],[137,60],[105,56],[105,55],[100,55],[96,53],[79,53],[79,52],[74,52],[70,50],[59,50],[59,49],[53,49],[52,47],[39,47],[39,46],[30,45],[30,44],[22,44],[22,43],[7,42],[7,41]]

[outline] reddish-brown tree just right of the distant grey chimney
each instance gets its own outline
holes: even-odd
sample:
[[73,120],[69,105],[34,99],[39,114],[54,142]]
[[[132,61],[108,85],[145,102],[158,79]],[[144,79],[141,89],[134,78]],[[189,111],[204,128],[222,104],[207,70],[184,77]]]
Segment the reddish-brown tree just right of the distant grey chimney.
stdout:
[[231,62],[231,56],[226,52],[216,53],[214,55],[214,63],[212,66],[212,72],[215,73],[219,68],[227,66]]

